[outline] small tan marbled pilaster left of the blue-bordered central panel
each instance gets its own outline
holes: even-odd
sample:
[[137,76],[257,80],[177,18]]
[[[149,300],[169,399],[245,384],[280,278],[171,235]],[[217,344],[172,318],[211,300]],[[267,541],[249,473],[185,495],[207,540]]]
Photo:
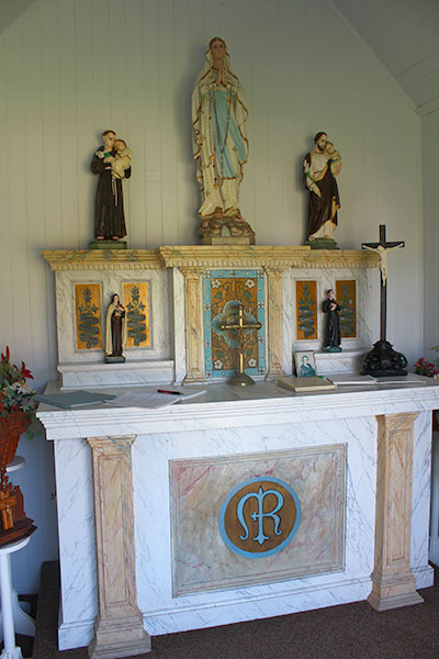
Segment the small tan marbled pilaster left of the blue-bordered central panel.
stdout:
[[204,336],[201,286],[205,268],[180,267],[184,276],[187,373],[184,382],[204,379]]

